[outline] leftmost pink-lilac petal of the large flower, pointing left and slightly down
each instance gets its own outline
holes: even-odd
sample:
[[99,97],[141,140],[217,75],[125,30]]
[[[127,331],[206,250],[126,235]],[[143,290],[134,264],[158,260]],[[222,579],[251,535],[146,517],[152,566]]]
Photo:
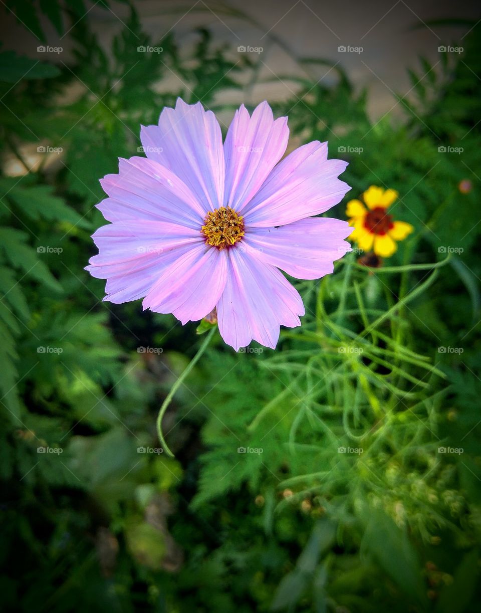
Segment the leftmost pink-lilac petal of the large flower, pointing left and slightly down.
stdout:
[[198,230],[143,219],[102,226],[93,239],[100,253],[86,270],[107,279],[104,300],[115,303],[144,297],[165,267],[204,243]]

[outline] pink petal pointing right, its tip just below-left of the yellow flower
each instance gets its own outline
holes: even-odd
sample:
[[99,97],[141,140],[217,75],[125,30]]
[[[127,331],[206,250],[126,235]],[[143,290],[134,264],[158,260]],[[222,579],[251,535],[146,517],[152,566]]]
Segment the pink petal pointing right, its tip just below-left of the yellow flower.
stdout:
[[248,248],[253,257],[298,279],[318,279],[333,272],[333,261],[350,251],[343,238],[351,232],[346,221],[311,217],[277,228],[246,227],[240,249]]

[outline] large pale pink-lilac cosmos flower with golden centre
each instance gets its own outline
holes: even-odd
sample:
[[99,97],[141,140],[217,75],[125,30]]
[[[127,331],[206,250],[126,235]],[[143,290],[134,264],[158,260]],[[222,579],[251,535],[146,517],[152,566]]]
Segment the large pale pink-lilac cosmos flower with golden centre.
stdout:
[[345,221],[313,217],[350,189],[338,179],[346,162],[318,141],[280,161],[287,118],[274,120],[267,102],[252,116],[242,105],[223,144],[214,114],[181,99],[140,138],[146,158],[119,159],[118,175],[100,180],[108,198],[97,207],[111,223],[93,235],[99,254],[86,268],[107,279],[104,300],[143,298],[182,324],[216,307],[236,351],[251,340],[275,348],[279,326],[305,313],[281,270],[316,279],[350,250]]

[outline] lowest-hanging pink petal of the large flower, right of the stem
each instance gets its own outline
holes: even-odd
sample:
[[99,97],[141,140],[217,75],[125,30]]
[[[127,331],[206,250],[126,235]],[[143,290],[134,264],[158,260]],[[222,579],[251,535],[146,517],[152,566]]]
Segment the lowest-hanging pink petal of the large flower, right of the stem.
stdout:
[[235,351],[251,340],[275,349],[279,326],[300,326],[305,313],[297,290],[272,266],[228,249],[229,272],[217,305],[219,332]]

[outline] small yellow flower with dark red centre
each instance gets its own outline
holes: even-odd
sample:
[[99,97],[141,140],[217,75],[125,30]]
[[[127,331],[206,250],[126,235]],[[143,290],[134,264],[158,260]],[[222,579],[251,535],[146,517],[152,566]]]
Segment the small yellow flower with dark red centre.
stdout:
[[396,241],[404,240],[414,230],[411,224],[393,221],[393,216],[388,215],[387,209],[397,197],[394,189],[371,185],[362,195],[365,205],[361,200],[349,200],[346,215],[350,218],[349,225],[355,228],[349,238],[360,249],[390,257],[398,248]]

